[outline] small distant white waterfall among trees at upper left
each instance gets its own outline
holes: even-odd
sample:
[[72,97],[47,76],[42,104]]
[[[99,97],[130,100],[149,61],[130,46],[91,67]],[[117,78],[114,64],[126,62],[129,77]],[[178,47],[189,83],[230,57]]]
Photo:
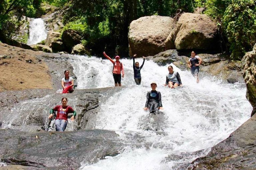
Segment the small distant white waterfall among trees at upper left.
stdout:
[[34,19],[29,26],[29,39],[27,44],[32,45],[41,42],[47,37],[47,30],[42,18]]

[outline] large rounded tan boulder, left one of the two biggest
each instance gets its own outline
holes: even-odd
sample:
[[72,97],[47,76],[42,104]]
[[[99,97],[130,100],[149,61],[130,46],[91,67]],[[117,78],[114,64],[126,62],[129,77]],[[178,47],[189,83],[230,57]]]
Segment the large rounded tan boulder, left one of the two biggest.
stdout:
[[132,21],[128,34],[129,54],[148,56],[164,51],[165,40],[173,25],[172,18],[162,16],[147,16]]

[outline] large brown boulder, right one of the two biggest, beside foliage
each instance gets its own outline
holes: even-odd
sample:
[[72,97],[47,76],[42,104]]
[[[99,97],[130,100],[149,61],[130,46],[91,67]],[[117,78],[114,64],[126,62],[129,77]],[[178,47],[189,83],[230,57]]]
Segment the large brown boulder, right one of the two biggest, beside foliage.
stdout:
[[166,49],[214,49],[216,36],[217,26],[207,15],[184,13],[166,39]]

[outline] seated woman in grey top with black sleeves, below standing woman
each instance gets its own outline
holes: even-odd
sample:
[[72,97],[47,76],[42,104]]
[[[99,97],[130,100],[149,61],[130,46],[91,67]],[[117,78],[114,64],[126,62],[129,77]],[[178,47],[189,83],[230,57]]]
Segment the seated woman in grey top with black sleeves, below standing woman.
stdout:
[[177,71],[173,71],[173,67],[171,65],[168,67],[168,70],[169,73],[166,75],[166,82],[164,85],[168,85],[170,88],[182,86],[179,73]]

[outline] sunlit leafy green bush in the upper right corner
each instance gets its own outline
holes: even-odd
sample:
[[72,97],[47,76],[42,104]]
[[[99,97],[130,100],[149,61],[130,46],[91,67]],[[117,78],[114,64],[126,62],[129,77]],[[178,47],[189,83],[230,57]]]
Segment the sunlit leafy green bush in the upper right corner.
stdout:
[[215,20],[232,59],[241,59],[256,43],[255,0],[195,0],[205,7],[204,14]]

